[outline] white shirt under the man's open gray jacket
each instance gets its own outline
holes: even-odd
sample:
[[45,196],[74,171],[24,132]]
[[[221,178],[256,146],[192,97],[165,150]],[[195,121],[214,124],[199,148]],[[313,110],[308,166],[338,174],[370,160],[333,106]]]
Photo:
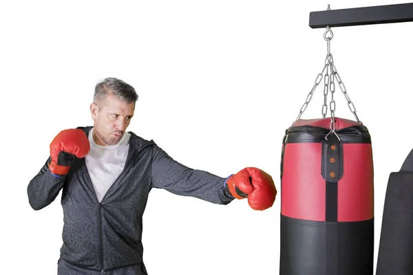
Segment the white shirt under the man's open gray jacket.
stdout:
[[85,162],[99,202],[125,167],[129,137],[130,133],[126,132],[118,144],[101,146],[94,142],[93,128],[89,131],[90,151]]

